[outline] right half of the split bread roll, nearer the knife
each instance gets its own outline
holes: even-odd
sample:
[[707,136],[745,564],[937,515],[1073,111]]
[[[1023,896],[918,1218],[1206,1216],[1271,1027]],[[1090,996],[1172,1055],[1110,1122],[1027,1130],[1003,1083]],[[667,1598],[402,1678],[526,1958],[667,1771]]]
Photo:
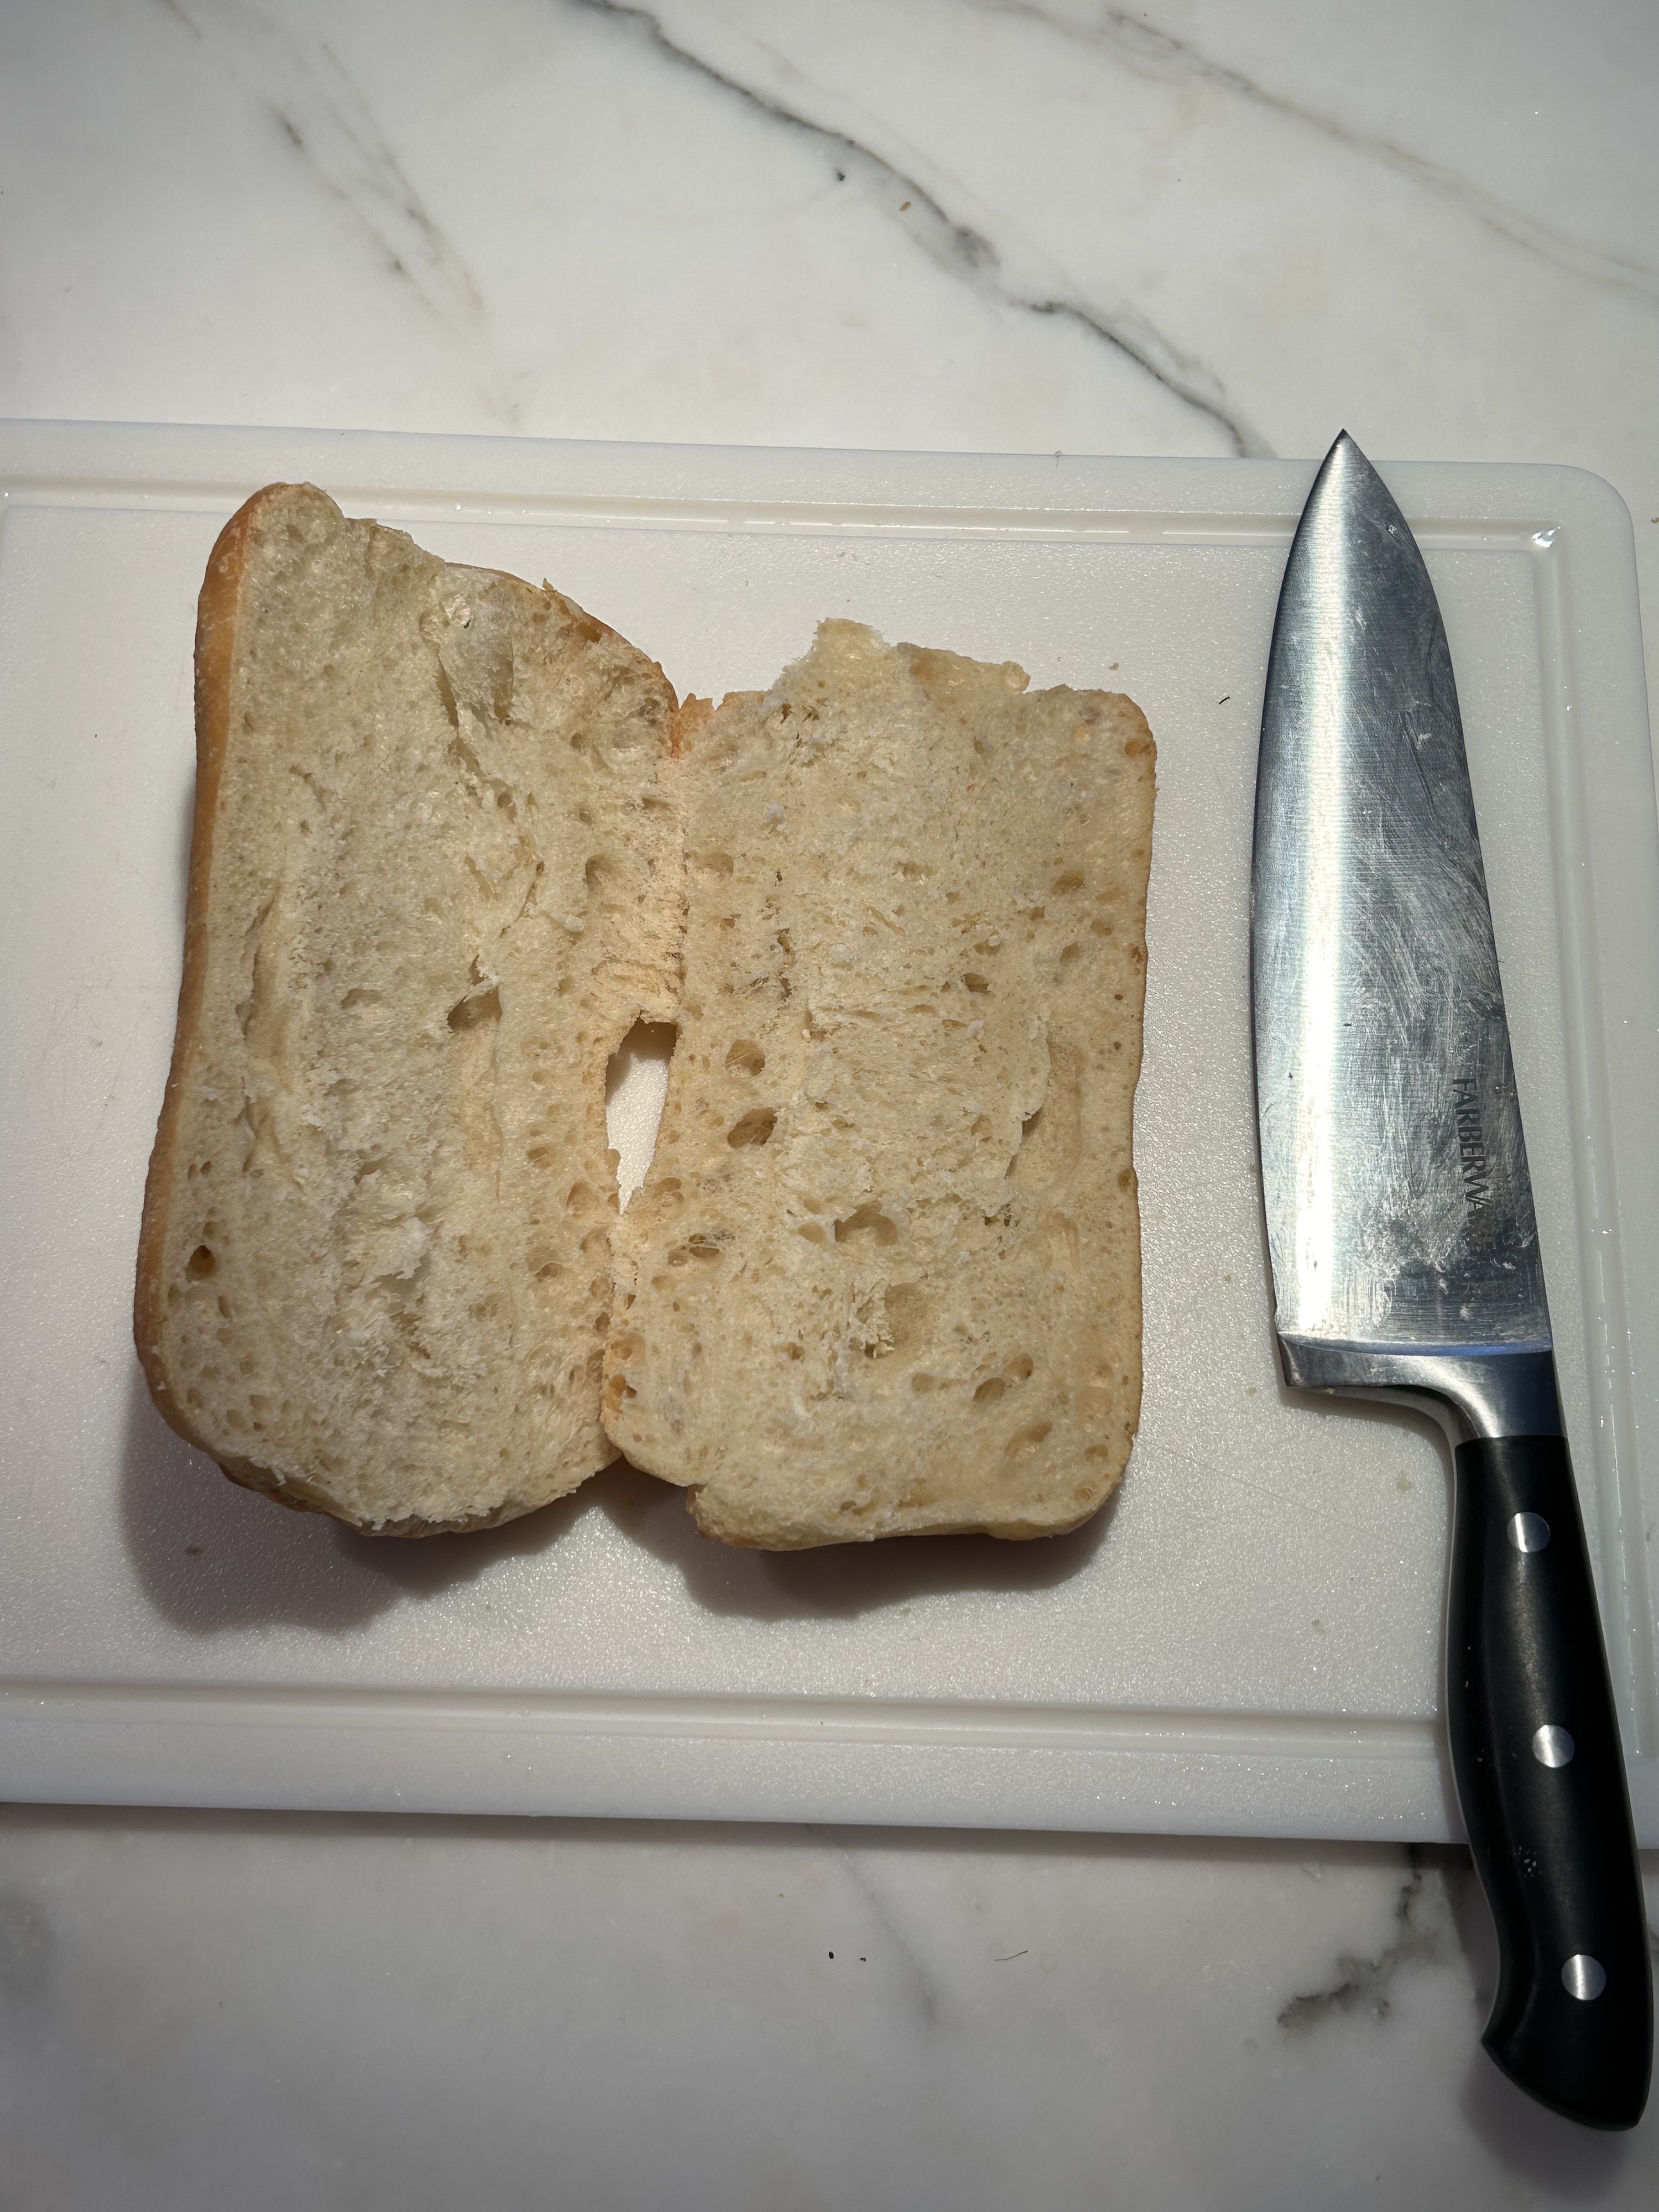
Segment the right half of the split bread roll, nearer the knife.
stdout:
[[827,622],[684,730],[608,1433],[734,1544],[1073,1528],[1141,1394],[1146,721]]

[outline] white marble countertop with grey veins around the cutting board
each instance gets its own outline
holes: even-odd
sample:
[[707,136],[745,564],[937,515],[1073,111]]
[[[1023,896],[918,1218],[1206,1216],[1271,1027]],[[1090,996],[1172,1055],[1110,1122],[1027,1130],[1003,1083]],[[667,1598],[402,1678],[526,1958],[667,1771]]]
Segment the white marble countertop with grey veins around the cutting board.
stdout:
[[[1548,460],[1659,668],[1641,0],[11,0],[0,416]],[[1659,1913],[1659,1860],[1648,1860]],[[1648,2205],[1462,1854],[0,1812],[4,2203]]]

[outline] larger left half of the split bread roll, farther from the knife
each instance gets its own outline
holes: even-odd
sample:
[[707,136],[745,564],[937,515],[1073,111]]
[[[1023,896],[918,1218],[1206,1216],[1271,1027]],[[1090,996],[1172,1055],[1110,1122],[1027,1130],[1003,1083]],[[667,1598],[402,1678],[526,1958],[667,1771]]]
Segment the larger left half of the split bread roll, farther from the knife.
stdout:
[[184,987],[137,1347],[237,1482],[358,1528],[604,1467],[604,1066],[677,1000],[661,670],[274,484],[197,628]]

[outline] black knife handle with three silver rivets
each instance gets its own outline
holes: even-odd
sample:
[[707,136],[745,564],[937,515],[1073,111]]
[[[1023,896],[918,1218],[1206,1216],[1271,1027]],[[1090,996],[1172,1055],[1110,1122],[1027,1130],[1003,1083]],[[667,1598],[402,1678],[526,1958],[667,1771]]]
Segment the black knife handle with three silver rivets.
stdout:
[[1482,2042],[1568,2119],[1635,2128],[1648,1916],[1566,1442],[1480,1438],[1455,1469],[1447,1721],[1500,1960]]

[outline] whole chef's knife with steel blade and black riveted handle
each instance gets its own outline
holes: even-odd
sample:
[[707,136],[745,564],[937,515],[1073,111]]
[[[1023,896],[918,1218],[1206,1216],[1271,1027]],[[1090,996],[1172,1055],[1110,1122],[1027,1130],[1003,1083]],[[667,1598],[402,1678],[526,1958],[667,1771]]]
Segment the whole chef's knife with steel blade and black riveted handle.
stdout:
[[1447,633],[1343,434],[1279,597],[1256,770],[1256,1117],[1294,1389],[1453,1451],[1447,1723],[1498,1922],[1486,2048],[1630,2128],[1652,1980]]

